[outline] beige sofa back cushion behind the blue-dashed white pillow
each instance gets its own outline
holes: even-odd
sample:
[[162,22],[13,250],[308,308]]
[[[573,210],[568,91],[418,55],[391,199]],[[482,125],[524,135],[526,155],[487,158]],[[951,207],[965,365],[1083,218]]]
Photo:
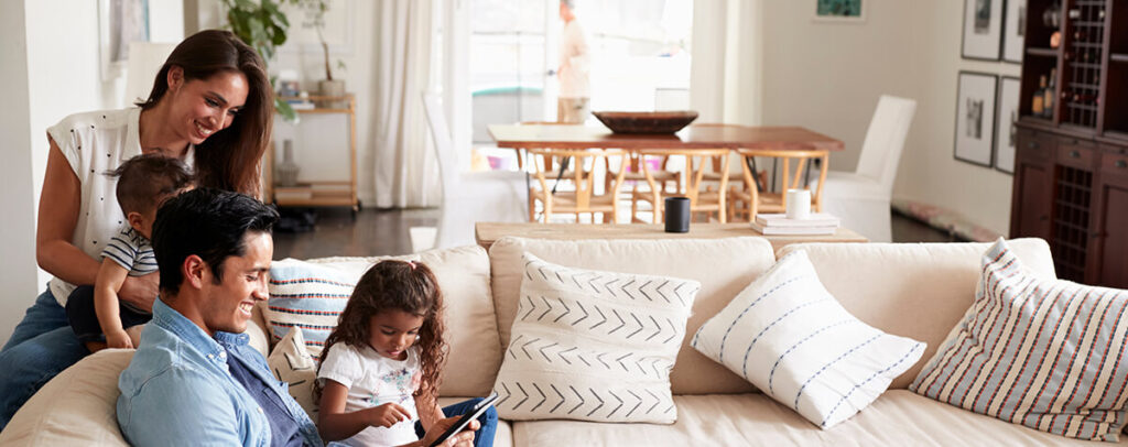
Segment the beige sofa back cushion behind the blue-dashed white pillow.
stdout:
[[[890,334],[928,343],[931,359],[976,297],[980,257],[992,244],[799,244],[779,256],[807,251],[819,280],[851,314]],[[1054,278],[1042,239],[1010,242],[1036,274]],[[924,367],[898,376],[890,389],[907,388]]]

